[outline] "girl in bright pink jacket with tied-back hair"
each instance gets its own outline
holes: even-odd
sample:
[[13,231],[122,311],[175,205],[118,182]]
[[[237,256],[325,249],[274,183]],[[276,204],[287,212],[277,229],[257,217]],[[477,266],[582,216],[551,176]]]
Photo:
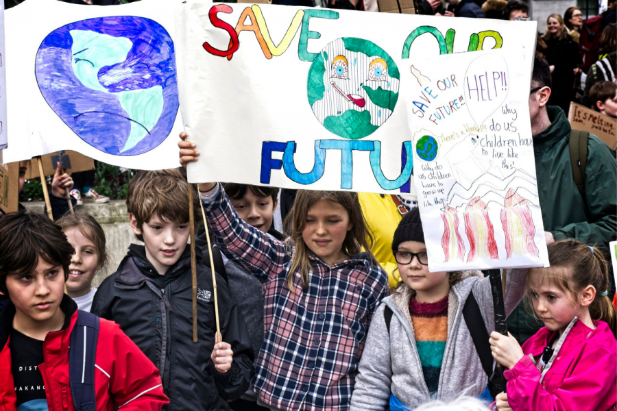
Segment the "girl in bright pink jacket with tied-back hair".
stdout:
[[544,327],[522,347],[512,336],[491,334],[493,357],[508,369],[497,410],[615,410],[616,314],[607,297],[607,261],[577,240],[549,245],[548,259],[550,268],[527,275]]

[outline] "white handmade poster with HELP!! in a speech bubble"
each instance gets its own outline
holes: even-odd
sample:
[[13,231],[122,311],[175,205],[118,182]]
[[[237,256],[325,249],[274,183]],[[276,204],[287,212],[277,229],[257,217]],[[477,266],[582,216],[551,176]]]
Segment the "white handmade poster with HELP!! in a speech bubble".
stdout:
[[407,115],[431,271],[548,266],[529,119],[532,63],[533,48],[524,47],[411,68]]

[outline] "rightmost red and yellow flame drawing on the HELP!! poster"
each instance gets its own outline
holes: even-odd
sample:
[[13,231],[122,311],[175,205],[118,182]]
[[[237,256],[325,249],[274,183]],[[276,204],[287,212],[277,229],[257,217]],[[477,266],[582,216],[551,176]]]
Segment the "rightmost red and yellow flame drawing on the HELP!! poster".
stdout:
[[531,210],[527,200],[511,188],[504,200],[505,208],[501,210],[501,225],[506,237],[507,258],[513,254],[527,254],[538,257],[535,247],[535,226],[531,219]]

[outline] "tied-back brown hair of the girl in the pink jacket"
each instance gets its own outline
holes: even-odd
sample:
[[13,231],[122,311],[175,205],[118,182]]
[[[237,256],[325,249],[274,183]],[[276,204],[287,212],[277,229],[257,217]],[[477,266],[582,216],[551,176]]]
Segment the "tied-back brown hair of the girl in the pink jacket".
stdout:
[[[609,266],[602,251],[578,240],[559,240],[548,245],[548,268],[531,269],[548,279],[560,290],[570,295],[576,303],[579,293],[587,286],[596,289],[596,297],[589,306],[593,320],[608,323],[613,334],[616,332],[617,317],[615,308],[607,295],[602,295],[609,288]],[[529,299],[529,275],[527,275],[527,305]],[[535,316],[535,312],[533,315]]]

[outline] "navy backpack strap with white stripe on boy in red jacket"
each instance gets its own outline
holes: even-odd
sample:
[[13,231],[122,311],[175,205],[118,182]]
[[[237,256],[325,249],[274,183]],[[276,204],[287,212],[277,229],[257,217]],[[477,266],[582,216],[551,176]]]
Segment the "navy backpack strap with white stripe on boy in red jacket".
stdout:
[[95,359],[99,338],[99,317],[80,310],[71,331],[69,379],[77,411],[96,410]]

